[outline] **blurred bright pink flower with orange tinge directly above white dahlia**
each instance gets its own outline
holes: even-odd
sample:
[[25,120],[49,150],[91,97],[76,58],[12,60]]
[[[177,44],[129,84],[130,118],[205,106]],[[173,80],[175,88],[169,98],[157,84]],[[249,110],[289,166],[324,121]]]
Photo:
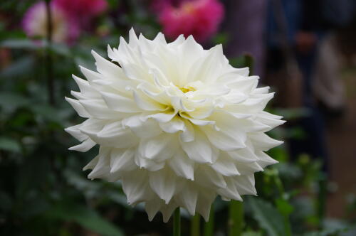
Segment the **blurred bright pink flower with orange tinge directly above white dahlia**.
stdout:
[[205,41],[216,33],[224,17],[224,7],[219,0],[181,1],[179,6],[162,1],[159,7],[159,23],[164,34],[172,39],[183,34]]

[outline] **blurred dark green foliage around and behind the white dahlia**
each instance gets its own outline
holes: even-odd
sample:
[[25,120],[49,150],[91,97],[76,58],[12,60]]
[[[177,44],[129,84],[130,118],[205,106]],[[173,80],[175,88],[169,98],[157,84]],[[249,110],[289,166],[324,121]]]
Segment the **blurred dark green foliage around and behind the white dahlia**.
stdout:
[[[63,131],[81,122],[64,102],[70,90],[77,90],[70,75],[80,75],[78,65],[94,69],[90,50],[105,55],[107,45],[116,47],[119,36],[126,37],[132,26],[154,37],[161,26],[150,1],[109,0],[106,11],[70,44],[26,36],[21,18],[35,3],[0,2],[0,235],[169,235],[172,222],[163,224],[160,215],[148,222],[142,205],[127,205],[120,183],[88,180],[82,168],[98,149],[68,151],[76,141]],[[226,43],[229,37],[219,31],[204,46]],[[253,69],[251,55],[229,59],[236,67]],[[268,109],[288,122],[305,116],[303,108],[271,104]],[[286,140],[304,139],[306,134],[283,126],[270,135]],[[308,154],[292,160],[286,145],[269,154],[280,163],[256,173],[259,196],[244,197],[242,235],[356,233],[355,196],[343,218],[326,217],[331,187],[321,170],[323,161]],[[216,199],[210,230],[214,235],[228,234],[228,209],[229,203]],[[182,215],[182,235],[189,235],[191,219]]]

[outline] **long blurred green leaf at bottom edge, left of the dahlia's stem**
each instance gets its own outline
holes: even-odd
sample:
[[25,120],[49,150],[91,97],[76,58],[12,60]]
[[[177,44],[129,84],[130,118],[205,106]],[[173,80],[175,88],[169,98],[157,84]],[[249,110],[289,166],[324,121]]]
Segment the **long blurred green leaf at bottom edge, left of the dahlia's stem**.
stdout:
[[58,220],[77,222],[82,227],[97,232],[100,235],[124,235],[115,225],[102,218],[95,210],[84,205],[59,204],[48,211],[48,216]]

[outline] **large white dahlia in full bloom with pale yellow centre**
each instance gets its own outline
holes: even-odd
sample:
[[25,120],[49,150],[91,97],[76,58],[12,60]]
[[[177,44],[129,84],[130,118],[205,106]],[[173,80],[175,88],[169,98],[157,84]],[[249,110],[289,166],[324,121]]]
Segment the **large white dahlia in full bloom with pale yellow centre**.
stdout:
[[273,93],[257,76],[192,36],[167,43],[131,30],[108,55],[93,52],[98,72],[80,68],[87,80],[73,75],[80,92],[66,98],[86,118],[66,129],[82,141],[70,150],[100,145],[88,178],[120,180],[128,204],[164,222],[177,207],[207,220],[216,195],[256,195],[253,173],[277,162],[264,151],[282,143],[264,132],[283,124],[263,111]]

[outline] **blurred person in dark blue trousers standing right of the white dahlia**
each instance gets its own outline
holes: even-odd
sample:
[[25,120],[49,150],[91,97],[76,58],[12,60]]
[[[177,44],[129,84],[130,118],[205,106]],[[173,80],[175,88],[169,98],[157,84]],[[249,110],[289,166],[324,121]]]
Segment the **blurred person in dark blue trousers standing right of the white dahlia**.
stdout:
[[[322,9],[321,1],[268,1],[267,83],[283,85],[283,87],[276,87],[278,93],[281,97],[293,101],[286,103],[283,99],[284,107],[308,109],[308,114],[293,124],[295,127],[301,127],[306,136],[304,139],[289,141],[292,157],[309,154],[313,158],[321,158],[324,162],[323,169],[326,171],[328,154],[325,148],[325,124],[315,104],[312,90],[318,43],[324,34],[320,9]],[[299,78],[295,77],[295,73],[288,73],[288,71],[278,74],[285,70],[288,61],[295,62],[295,71],[300,73]],[[298,86],[288,87],[290,82]],[[298,96],[290,97],[291,95]]]

